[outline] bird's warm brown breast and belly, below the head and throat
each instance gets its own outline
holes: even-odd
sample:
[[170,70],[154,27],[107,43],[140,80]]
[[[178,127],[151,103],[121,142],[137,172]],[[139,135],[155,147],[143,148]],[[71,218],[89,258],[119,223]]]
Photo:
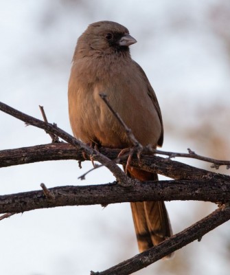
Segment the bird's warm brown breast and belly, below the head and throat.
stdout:
[[161,123],[148,96],[146,85],[132,66],[110,64],[81,69],[72,67],[69,79],[69,118],[76,137],[83,142],[125,148],[131,146],[123,126],[111,113],[100,94],[106,94],[114,111],[143,145],[156,145]]

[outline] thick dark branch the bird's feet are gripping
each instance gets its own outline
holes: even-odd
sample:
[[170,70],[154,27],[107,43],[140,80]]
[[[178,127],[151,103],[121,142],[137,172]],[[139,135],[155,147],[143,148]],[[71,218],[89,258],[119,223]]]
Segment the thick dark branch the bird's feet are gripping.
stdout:
[[[119,152],[119,149],[100,148],[100,153],[106,155],[109,159],[116,159]],[[61,159],[76,159],[82,162],[85,160],[82,157],[82,148],[76,149],[64,142],[0,151],[0,167]],[[120,163],[126,164],[126,158],[122,157]],[[181,162],[172,161],[171,159],[165,159],[155,155],[141,155],[140,161],[137,157],[133,156],[131,165],[173,179],[230,180],[228,175],[195,168]]]

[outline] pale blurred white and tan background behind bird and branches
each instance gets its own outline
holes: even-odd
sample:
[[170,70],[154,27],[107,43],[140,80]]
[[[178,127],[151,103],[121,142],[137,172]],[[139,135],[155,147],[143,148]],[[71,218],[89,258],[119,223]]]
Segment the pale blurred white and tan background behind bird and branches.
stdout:
[[[130,48],[156,91],[165,126],[163,150],[229,159],[229,0],[90,1],[1,3],[0,100],[71,133],[67,83],[78,36],[95,21],[125,25],[138,43]],[[0,149],[50,142],[49,135],[0,113]],[[182,162],[210,169],[191,159]],[[90,163],[44,162],[1,168],[1,195],[53,186],[108,183],[100,169],[80,181]],[[225,168],[219,173],[229,173]],[[163,177],[161,177],[163,178]],[[211,203],[167,203],[174,232],[216,208]],[[34,210],[0,224],[1,274],[62,275],[102,271],[137,254],[130,206],[120,203]],[[136,274],[227,275],[229,223]]]

